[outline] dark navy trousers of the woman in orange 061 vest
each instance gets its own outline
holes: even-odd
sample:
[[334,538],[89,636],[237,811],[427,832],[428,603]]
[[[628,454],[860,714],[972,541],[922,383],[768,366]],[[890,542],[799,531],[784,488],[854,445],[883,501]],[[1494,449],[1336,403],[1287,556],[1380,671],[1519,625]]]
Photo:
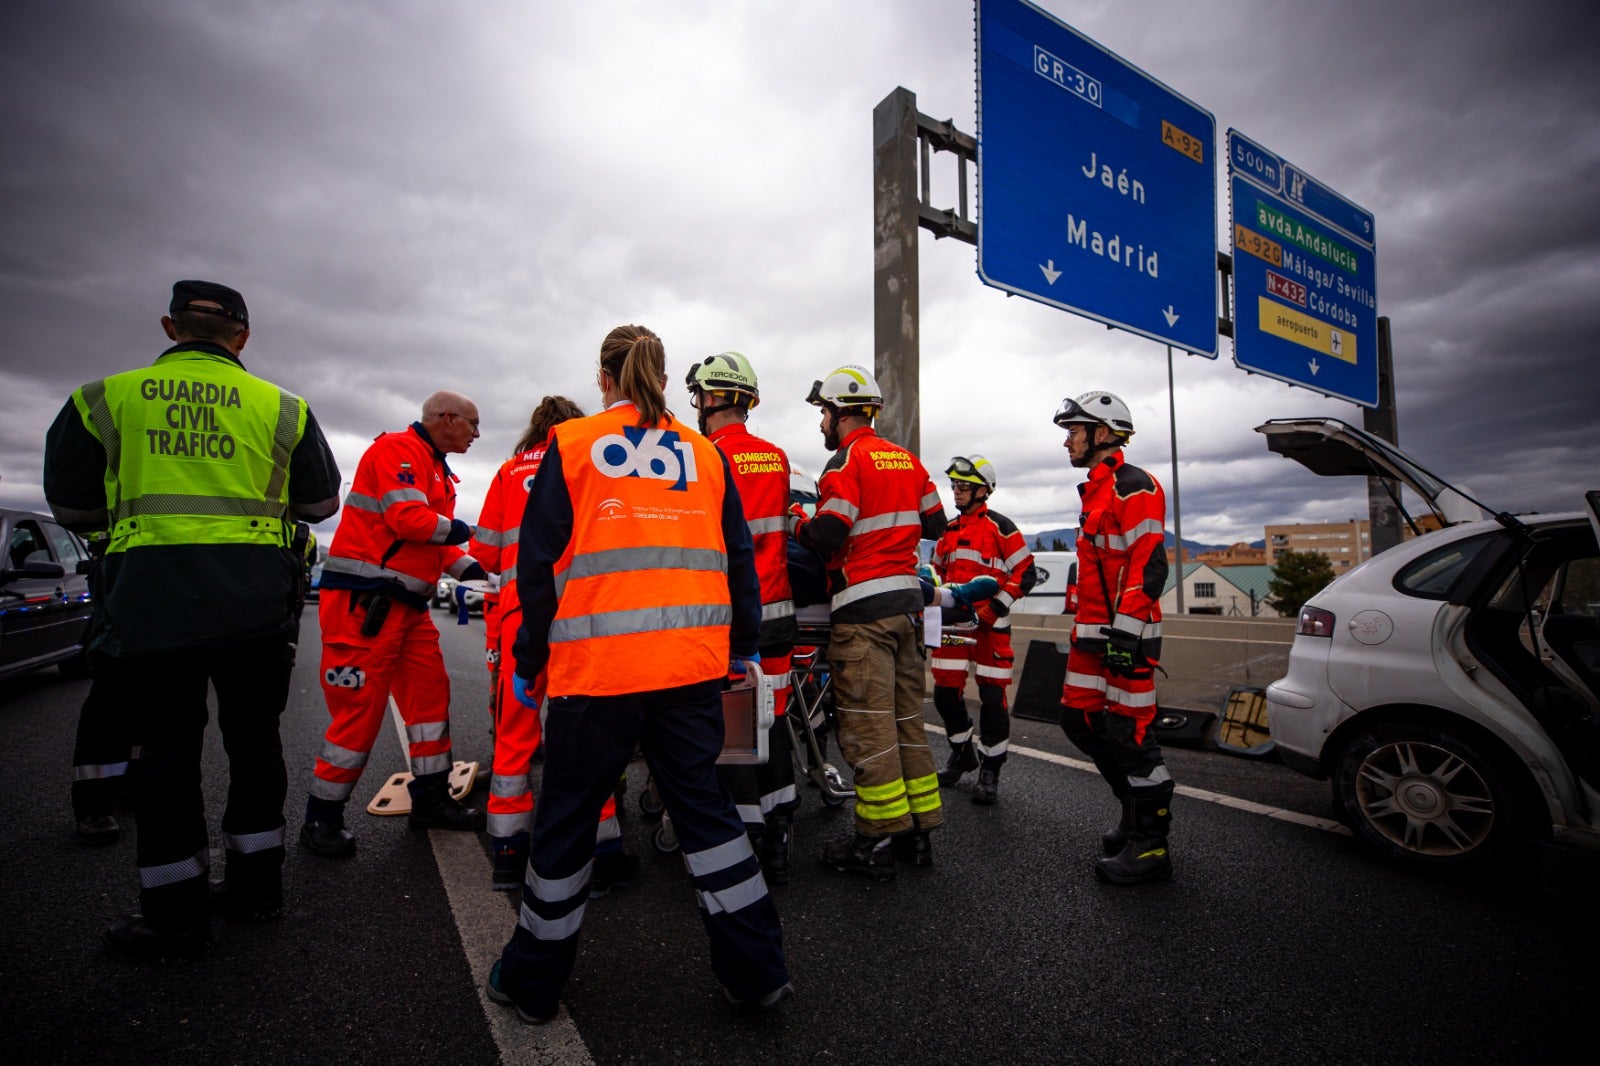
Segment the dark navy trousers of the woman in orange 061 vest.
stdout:
[[789,981],[778,908],[733,799],[717,779],[722,743],[722,679],[550,699],[522,912],[501,952],[501,988],[518,1007],[555,1013],[578,957],[595,821],[635,747],[683,847],[717,980],[738,999]]

